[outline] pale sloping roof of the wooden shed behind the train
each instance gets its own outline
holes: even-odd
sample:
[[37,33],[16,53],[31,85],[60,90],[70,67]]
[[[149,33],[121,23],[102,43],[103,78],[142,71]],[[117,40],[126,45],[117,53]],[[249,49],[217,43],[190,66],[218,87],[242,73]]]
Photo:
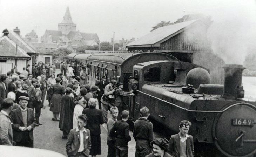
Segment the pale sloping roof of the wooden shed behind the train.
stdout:
[[183,30],[185,27],[191,25],[196,21],[197,20],[191,20],[187,22],[181,22],[174,25],[157,28],[149,34],[141,37],[140,39],[128,43],[126,46],[160,46],[160,44],[157,44],[159,41],[173,37],[174,35],[180,33],[179,31]]

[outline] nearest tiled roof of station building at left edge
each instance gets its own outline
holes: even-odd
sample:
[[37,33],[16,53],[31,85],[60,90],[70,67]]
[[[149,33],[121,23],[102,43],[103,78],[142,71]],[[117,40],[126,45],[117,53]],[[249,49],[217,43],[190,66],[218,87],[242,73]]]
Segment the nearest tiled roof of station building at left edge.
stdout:
[[16,45],[16,43],[7,36],[3,36],[0,39],[0,56],[30,58],[25,50],[19,45]]

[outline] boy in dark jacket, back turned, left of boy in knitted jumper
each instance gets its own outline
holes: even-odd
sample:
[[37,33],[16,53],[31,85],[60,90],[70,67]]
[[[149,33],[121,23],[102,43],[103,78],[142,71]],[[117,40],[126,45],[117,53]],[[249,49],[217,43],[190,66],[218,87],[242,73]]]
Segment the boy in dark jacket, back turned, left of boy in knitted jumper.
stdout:
[[128,142],[131,141],[129,135],[129,124],[126,122],[129,118],[129,111],[122,111],[122,119],[115,122],[113,128],[110,130],[110,136],[116,137],[116,156],[128,157]]

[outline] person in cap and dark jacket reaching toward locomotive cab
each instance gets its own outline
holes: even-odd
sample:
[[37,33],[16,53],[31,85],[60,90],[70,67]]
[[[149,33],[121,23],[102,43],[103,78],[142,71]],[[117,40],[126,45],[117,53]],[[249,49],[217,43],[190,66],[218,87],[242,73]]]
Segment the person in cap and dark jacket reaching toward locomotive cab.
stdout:
[[126,104],[123,102],[123,97],[129,97],[130,95],[134,96],[134,93],[132,93],[133,91],[130,92],[124,92],[122,91],[123,89],[123,83],[121,82],[117,82],[116,84],[116,93],[115,93],[115,106],[118,108],[118,116],[117,116],[117,120],[121,119],[121,114],[122,111],[124,110],[124,107],[126,107]]

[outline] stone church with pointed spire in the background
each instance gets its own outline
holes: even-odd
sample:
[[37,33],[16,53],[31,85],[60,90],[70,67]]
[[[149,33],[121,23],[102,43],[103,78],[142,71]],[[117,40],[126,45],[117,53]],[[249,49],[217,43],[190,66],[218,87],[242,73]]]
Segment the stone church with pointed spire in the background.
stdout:
[[67,7],[62,22],[58,24],[58,30],[46,30],[41,42],[56,43],[57,47],[69,45],[76,49],[86,45],[98,45],[100,40],[97,33],[83,33],[76,30],[76,24],[73,23]]

